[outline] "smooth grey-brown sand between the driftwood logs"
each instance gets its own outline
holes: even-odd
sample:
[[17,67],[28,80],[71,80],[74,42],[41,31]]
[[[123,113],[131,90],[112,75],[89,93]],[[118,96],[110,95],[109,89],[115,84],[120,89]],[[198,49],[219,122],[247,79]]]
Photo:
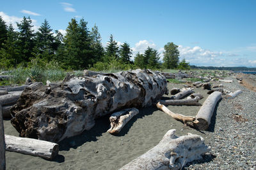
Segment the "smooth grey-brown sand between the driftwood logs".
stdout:
[[[168,84],[169,89],[173,87],[183,86]],[[199,101],[203,104],[208,96],[207,90],[195,88],[195,93],[204,95]],[[176,113],[195,116],[200,106],[168,108]],[[207,136],[204,133],[184,127],[182,123],[153,106],[140,109],[140,113],[116,136],[107,132],[110,127],[108,118],[109,116],[100,118],[91,130],[62,141],[59,155],[52,161],[6,151],[6,169],[118,169],[156,146],[163,135],[172,128],[177,129],[177,135],[185,135],[188,132],[202,135],[207,143]],[[212,120],[214,121],[214,118]],[[212,125],[214,126],[214,123]],[[19,136],[10,120],[4,120],[4,132]]]

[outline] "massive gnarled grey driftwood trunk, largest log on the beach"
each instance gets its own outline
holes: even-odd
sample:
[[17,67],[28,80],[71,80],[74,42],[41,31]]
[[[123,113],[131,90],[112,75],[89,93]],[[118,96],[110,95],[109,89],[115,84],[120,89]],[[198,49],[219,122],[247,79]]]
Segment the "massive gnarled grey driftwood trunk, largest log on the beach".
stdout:
[[56,143],[90,130],[100,116],[154,104],[166,85],[150,70],[73,77],[51,87],[34,83],[12,107],[11,122],[22,137]]

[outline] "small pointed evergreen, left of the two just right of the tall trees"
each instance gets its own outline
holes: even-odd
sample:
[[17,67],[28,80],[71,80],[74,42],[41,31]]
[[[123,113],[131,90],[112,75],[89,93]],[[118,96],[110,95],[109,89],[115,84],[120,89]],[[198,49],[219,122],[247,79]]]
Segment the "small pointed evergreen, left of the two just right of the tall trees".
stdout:
[[108,45],[106,47],[106,61],[111,59],[118,59],[118,46],[117,42],[113,39],[113,35],[110,35]]

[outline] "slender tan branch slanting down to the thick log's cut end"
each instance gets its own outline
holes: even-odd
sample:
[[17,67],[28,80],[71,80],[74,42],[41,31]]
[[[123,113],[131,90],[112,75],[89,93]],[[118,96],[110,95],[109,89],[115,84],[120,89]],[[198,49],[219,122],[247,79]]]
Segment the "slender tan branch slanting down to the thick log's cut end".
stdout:
[[182,114],[177,114],[174,113],[172,111],[170,111],[167,107],[165,107],[165,105],[161,104],[160,102],[158,102],[156,104],[157,108],[163,112],[165,112],[166,114],[172,116],[172,118],[174,118],[177,121],[181,121],[182,123],[184,123],[184,125],[191,125],[193,123],[198,123],[198,121],[196,121],[196,118],[193,116],[184,116]]

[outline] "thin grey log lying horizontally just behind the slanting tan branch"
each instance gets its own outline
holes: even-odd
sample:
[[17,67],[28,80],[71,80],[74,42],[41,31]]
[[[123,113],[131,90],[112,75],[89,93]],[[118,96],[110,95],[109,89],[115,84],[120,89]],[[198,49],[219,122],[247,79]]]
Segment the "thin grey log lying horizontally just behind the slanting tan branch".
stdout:
[[160,100],[160,103],[163,105],[202,105],[198,103],[198,100],[200,100],[200,97],[182,100]]

